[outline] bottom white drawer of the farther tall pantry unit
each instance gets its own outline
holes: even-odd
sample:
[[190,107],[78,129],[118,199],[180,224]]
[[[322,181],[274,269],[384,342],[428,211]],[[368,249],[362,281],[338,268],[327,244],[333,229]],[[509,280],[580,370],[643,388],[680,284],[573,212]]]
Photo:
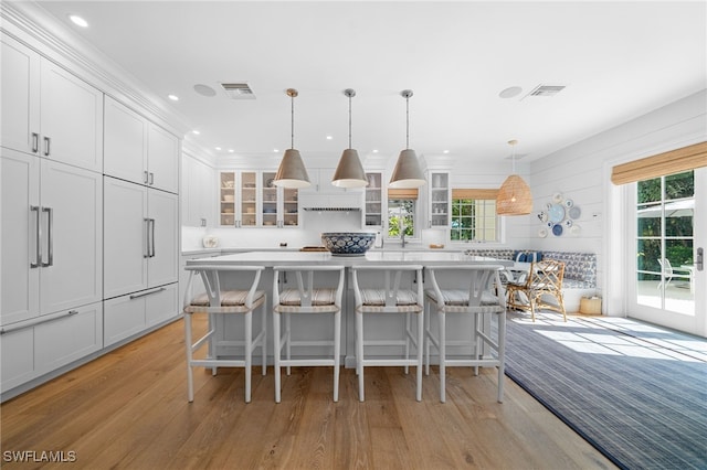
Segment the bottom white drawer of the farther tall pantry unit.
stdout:
[[178,282],[105,301],[104,344],[109,346],[175,318],[179,313]]

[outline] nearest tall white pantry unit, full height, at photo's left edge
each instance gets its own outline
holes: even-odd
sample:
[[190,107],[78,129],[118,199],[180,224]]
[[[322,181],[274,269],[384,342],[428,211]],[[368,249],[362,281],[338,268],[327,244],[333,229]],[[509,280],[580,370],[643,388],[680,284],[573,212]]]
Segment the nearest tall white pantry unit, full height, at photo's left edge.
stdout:
[[0,389],[103,348],[103,93],[2,35]]

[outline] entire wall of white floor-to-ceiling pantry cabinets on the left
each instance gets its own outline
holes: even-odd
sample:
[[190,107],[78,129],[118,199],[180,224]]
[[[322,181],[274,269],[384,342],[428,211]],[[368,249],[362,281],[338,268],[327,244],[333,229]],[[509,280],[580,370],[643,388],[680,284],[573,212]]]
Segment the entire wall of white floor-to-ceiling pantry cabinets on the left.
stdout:
[[2,399],[179,314],[179,139],[24,34],[0,33]]

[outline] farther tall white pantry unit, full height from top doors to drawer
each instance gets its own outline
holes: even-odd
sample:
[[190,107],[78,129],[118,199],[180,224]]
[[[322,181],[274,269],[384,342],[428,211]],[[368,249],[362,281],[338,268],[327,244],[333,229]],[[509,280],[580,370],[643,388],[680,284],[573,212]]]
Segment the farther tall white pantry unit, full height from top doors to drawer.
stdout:
[[178,312],[179,140],[106,96],[105,345]]

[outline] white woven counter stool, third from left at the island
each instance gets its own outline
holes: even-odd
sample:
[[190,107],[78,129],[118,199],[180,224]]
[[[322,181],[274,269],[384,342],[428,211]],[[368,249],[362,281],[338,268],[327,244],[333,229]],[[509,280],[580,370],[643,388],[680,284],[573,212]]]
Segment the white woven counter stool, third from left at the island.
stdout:
[[[402,287],[403,274],[415,275],[416,287]],[[382,278],[381,278],[382,276]],[[356,373],[358,374],[359,400],[365,400],[363,368],[366,366],[402,365],[405,373],[410,365],[416,370],[415,399],[422,400],[422,345],[424,333],[424,298],[422,289],[422,266],[352,266],[351,282],[356,297]],[[377,319],[382,320],[391,314],[404,317],[403,338],[366,339],[363,317],[369,318],[367,324]],[[413,331],[411,317],[416,317],[416,329]],[[369,331],[370,332],[370,331]],[[410,345],[415,348],[415,357],[410,357]],[[392,356],[366,359],[368,348],[402,348],[402,353]]]

